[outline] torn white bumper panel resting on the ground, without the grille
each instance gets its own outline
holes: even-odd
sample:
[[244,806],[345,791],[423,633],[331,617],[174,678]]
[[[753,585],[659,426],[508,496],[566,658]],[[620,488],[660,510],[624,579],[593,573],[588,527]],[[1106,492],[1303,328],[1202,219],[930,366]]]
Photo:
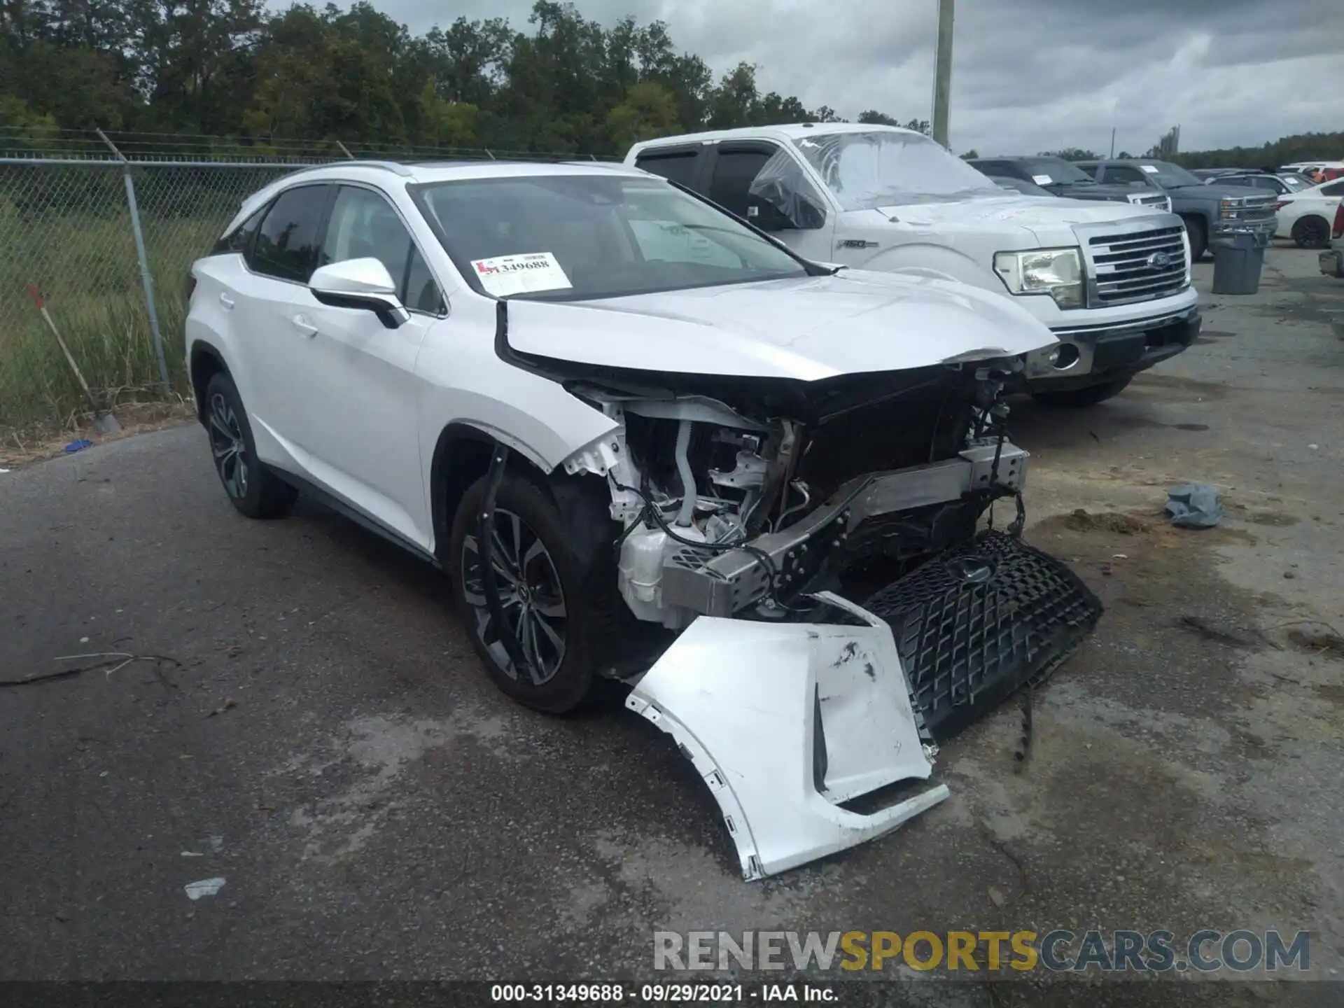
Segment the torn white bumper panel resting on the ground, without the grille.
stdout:
[[[699,617],[625,706],[672,735],[719,802],[749,882],[891,832],[948,797],[938,785],[874,814],[839,802],[927,780],[891,629]],[[824,754],[824,755],[823,755]]]

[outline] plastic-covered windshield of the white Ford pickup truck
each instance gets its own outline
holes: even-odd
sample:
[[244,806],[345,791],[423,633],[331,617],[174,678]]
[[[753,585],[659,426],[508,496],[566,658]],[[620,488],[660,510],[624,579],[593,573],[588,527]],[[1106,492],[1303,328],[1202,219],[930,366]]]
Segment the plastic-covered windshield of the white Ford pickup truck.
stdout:
[[1004,195],[919,133],[818,133],[793,142],[845,210]]

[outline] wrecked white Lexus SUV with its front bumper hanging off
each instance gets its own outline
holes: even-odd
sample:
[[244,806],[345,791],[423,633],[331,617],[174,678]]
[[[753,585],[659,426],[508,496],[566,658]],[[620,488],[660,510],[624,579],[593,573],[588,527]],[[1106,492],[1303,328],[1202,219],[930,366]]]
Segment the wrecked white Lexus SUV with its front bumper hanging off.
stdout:
[[524,704],[629,684],[749,879],[941,801],[848,806],[1099,617],[1019,535],[1001,395],[1055,339],[993,293],[808,261],[621,165],[302,169],[191,271],[234,507],[309,492],[446,570]]

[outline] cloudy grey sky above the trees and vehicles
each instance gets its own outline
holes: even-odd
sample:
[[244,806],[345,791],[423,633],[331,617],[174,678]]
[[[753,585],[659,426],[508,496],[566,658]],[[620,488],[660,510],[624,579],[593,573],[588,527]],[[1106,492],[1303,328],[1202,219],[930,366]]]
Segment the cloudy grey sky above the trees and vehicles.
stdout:
[[[507,16],[531,0],[374,0],[413,31]],[[927,118],[937,0],[578,0],[610,24],[661,19],[716,74],[758,65],[762,90],[852,118]],[[1141,152],[1344,129],[1344,0],[958,0],[952,145]],[[1344,157],[1344,151],[1337,152]]]

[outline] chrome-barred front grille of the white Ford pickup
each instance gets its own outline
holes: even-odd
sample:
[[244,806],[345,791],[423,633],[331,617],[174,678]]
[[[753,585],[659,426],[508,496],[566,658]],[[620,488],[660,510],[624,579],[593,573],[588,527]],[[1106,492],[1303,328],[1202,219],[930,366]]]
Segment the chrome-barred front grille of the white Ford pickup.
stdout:
[[1093,306],[1168,297],[1185,286],[1185,227],[1179,220],[1122,234],[1093,235],[1083,245]]

